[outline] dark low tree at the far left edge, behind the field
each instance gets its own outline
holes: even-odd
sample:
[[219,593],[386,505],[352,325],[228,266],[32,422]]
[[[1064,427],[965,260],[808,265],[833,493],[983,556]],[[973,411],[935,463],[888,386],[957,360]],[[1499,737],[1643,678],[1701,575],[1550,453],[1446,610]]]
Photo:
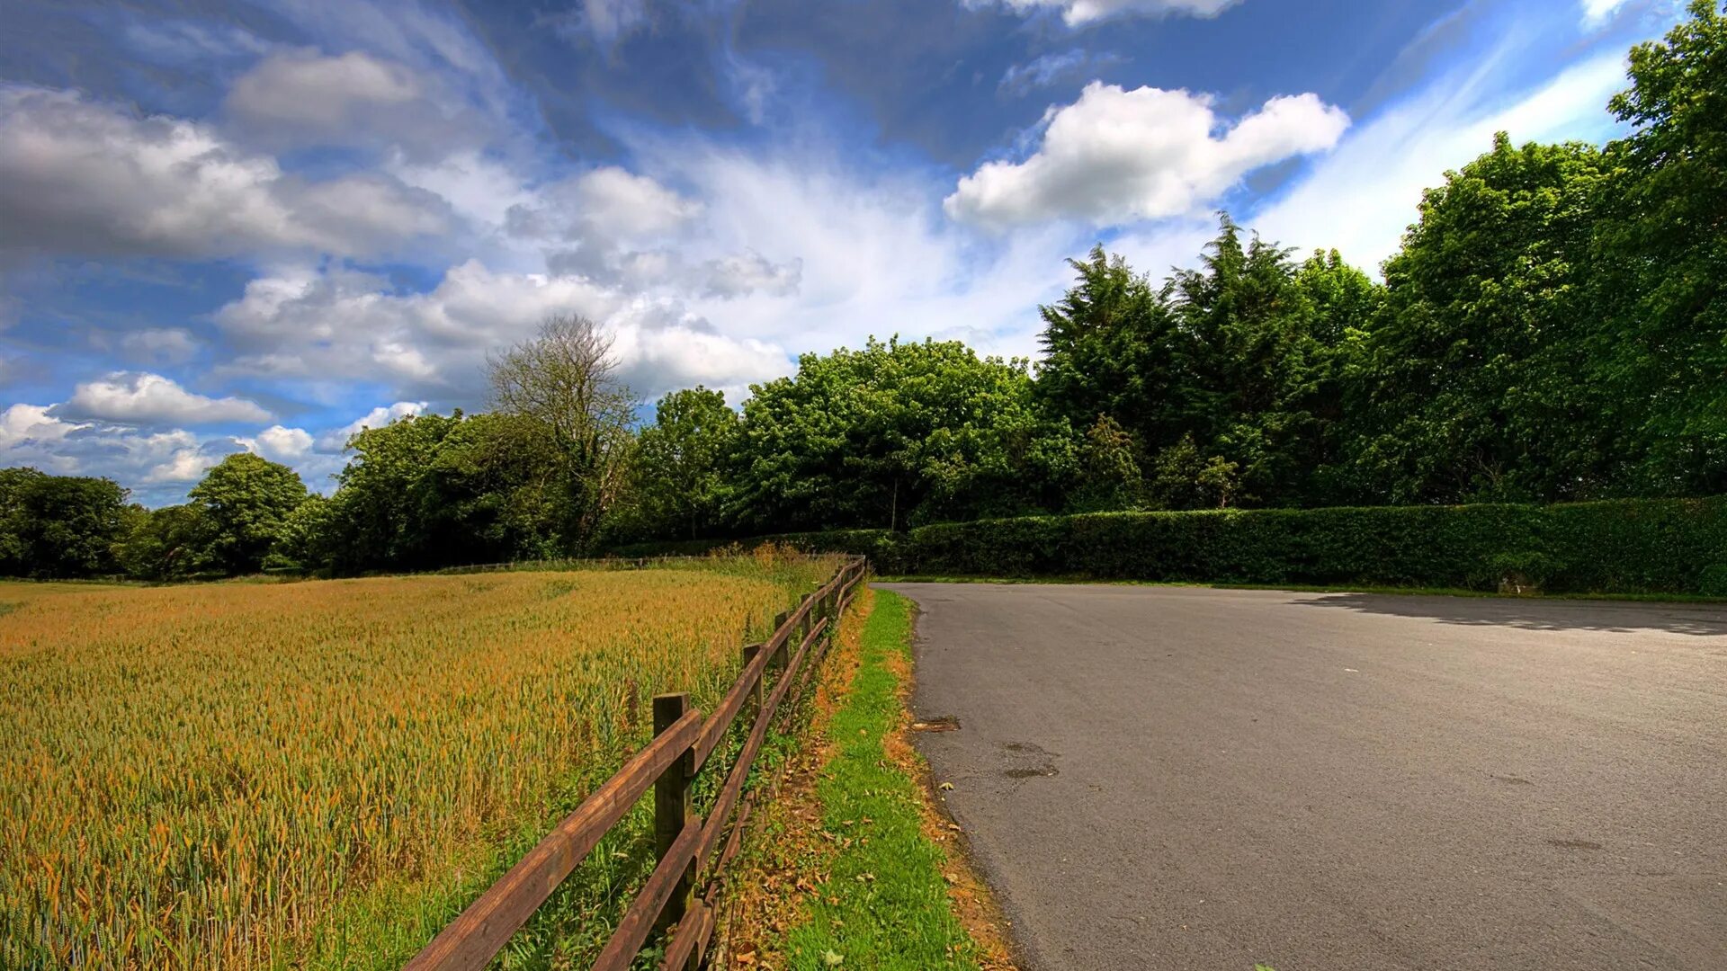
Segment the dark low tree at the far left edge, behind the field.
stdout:
[[7,574],[112,574],[114,544],[126,529],[126,491],[111,479],[0,470],[0,565]]

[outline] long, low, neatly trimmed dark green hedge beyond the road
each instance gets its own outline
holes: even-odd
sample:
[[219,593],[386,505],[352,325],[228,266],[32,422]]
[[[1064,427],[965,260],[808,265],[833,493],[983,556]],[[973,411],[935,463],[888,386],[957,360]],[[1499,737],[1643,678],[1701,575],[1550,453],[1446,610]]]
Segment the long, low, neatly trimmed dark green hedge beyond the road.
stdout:
[[1090,513],[763,539],[865,553],[886,574],[1727,593],[1727,498]]

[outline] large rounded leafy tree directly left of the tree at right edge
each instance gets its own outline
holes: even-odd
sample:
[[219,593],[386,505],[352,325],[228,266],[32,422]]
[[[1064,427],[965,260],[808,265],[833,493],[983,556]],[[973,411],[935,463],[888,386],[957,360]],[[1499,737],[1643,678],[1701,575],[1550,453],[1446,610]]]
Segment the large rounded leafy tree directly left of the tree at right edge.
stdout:
[[1620,403],[1591,285],[1606,173],[1589,145],[1494,147],[1421,200],[1385,263],[1345,444],[1361,499],[1575,499],[1611,491]]

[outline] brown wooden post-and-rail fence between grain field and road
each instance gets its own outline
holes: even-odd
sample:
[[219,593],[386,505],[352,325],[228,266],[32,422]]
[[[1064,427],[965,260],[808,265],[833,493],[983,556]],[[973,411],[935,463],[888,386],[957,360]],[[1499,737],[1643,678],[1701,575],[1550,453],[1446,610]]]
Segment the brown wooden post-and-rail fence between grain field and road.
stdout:
[[[549,836],[528,850],[432,943],[408,962],[411,971],[485,968],[509,936],[551,897],[599,840],[653,788],[658,864],[618,921],[596,971],[630,966],[655,931],[670,933],[663,969],[694,969],[713,935],[725,864],[737,855],[744,826],[760,790],[743,795],[744,781],[775,714],[781,727],[832,643],[839,617],[864,579],[862,556],[845,562],[820,589],[784,615],[762,644],[744,648],[744,667],[706,719],[689,695],[653,700],[655,738],[596,788]],[[706,819],[696,816],[691,784],[727,729],[755,700],[755,722],[732,762]],[[734,814],[736,810],[736,814]],[[734,819],[736,816],[736,819]]]

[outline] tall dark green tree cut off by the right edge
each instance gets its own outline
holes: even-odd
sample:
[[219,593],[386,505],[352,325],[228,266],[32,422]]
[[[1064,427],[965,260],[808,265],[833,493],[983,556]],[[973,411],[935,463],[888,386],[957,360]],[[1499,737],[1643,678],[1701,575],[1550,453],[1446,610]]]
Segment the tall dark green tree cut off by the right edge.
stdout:
[[[1635,491],[1727,491],[1727,16],[1692,0],[1663,41],[1630,52],[1630,90],[1610,104],[1632,133],[1599,232],[1604,283],[1592,349],[1635,406]],[[1606,311],[1603,314],[1603,311]]]

